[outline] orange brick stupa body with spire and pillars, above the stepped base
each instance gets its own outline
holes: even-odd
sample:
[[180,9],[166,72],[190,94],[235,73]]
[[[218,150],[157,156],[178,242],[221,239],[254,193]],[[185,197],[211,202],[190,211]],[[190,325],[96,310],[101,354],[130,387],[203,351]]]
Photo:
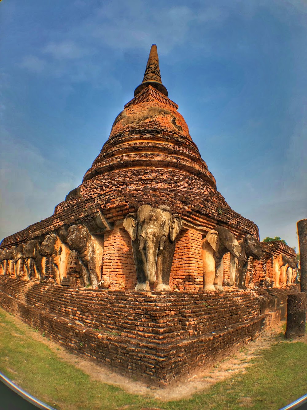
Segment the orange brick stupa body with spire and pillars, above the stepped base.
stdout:
[[[135,267],[131,241],[122,221],[145,203],[168,205],[183,219],[171,274],[180,290],[203,287],[201,239],[219,224],[239,239],[257,225],[233,211],[216,189],[214,176],[192,141],[178,105],[162,84],[156,45],[151,46],[143,82],[115,118],[110,136],[82,184],[54,209],[54,214],[5,238],[10,248],[68,225],[83,223],[104,237],[102,275],[111,289],[133,289]],[[184,260],[184,263],[182,262]],[[69,261],[73,274],[76,263]]]

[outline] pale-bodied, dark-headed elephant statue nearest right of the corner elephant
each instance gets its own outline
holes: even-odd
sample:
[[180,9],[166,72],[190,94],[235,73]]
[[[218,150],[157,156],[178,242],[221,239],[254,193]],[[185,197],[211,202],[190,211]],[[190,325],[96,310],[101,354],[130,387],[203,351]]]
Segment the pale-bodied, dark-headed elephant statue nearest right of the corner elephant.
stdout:
[[[236,259],[240,256],[241,247],[235,235],[229,229],[216,226],[210,230],[202,241],[203,250],[203,282],[205,291],[223,290],[223,256],[230,252],[230,282],[235,283]],[[246,262],[246,259],[243,259]]]

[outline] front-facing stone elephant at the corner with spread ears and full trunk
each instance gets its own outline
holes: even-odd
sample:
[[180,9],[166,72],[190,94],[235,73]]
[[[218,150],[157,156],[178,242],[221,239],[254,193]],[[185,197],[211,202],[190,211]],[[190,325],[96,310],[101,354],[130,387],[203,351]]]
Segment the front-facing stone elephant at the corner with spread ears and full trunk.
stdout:
[[150,291],[149,284],[158,284],[156,291],[169,291],[169,276],[175,252],[175,240],[183,227],[181,217],[166,205],[156,208],[142,205],[126,216],[124,228],[132,241],[136,270],[135,291]]

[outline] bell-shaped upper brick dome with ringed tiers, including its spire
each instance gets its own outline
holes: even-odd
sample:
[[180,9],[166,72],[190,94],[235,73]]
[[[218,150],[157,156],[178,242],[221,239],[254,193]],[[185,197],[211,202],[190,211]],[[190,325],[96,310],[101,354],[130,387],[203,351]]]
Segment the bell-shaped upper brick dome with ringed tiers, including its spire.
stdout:
[[167,97],[161,82],[153,45],[143,82],[136,88],[135,97],[115,118],[108,141],[84,175],[84,181],[111,170],[153,166],[180,169],[216,189],[215,179],[177,109],[178,105]]

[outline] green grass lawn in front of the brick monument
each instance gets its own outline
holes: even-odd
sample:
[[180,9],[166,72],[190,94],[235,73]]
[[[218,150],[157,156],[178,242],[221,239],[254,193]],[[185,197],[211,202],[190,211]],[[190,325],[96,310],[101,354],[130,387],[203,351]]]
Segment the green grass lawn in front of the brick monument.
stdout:
[[216,383],[190,399],[159,401],[91,380],[32,339],[35,330],[0,309],[0,371],[57,409],[280,409],[307,392],[307,343],[285,342],[262,350],[242,374]]

